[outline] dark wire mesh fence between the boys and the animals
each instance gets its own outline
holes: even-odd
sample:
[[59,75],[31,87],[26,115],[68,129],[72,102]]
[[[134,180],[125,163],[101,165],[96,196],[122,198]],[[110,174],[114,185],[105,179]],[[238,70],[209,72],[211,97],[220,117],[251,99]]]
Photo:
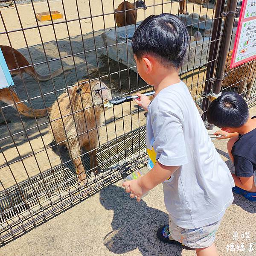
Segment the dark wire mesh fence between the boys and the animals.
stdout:
[[[180,79],[198,105],[206,97],[207,66],[220,58],[208,60],[224,22],[209,0],[21,2],[0,9],[0,47],[15,82],[0,90],[2,244],[145,166],[143,109],[108,104],[153,90],[131,51],[141,21],[172,13],[186,24],[190,43]],[[220,35],[213,40],[216,22]],[[237,23],[238,17],[230,51]],[[229,70],[230,55],[222,90],[237,90],[252,103],[255,63]]]

